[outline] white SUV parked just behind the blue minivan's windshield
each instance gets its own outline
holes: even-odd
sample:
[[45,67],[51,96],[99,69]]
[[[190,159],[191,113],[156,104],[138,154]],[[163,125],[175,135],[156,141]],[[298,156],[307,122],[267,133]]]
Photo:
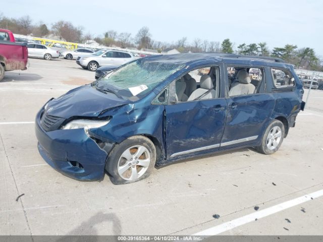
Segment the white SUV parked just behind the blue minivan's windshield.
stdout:
[[88,57],[78,57],[76,63],[95,72],[101,66],[121,66],[134,59],[131,53],[119,50],[99,50]]

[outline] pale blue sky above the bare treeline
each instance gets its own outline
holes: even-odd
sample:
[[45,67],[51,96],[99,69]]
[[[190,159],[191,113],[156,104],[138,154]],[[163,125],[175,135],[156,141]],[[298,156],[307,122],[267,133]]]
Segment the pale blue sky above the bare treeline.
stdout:
[[323,1],[7,1],[0,12],[8,17],[29,15],[33,23],[51,26],[58,20],[102,35],[107,30],[134,36],[147,26],[153,39],[176,41],[184,36],[222,42],[235,47],[266,42],[268,47],[296,44],[314,48],[323,57]]

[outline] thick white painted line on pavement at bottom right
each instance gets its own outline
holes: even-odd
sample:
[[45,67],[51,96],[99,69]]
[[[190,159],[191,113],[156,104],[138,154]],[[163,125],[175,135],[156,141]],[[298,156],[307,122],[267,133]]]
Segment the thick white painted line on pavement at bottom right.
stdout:
[[241,218],[237,218],[237,219],[231,220],[229,222],[226,222],[226,223],[205,229],[203,231],[197,232],[193,235],[205,235],[205,236],[217,235],[219,233],[223,233],[227,230],[233,229],[233,228],[241,226],[243,224],[255,221],[256,218],[257,219],[264,218],[266,216],[272,215],[274,213],[278,213],[280,211],[294,207],[294,206],[299,205],[301,203],[310,201],[312,198],[314,199],[314,198],[318,198],[321,196],[323,196],[323,190],[319,190],[317,192],[310,193],[308,195],[304,195],[302,197],[295,198],[293,200],[289,200],[289,201],[281,203],[281,204],[277,204],[275,206],[263,209],[261,211],[257,211],[257,212],[248,214],[248,215],[243,216]]

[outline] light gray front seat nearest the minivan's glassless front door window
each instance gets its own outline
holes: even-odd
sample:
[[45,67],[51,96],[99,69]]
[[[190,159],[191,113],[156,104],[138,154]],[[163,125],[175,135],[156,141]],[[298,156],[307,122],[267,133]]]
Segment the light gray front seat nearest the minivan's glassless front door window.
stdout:
[[[200,87],[201,88],[197,88],[189,96],[187,101],[194,100],[194,99],[196,99],[198,97],[200,97],[199,99],[210,99],[210,98],[215,98],[216,97],[217,93],[216,93],[216,90],[214,90],[214,86],[213,86],[213,83],[212,83],[212,80],[211,80],[210,76],[208,76],[208,75],[201,76]],[[207,94],[204,95],[205,93],[207,93]]]

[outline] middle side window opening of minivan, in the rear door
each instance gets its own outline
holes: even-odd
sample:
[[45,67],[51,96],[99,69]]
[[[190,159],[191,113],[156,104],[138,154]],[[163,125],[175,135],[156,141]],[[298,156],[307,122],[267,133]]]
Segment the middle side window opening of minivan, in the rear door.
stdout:
[[248,95],[261,92],[263,68],[228,67],[229,96]]

